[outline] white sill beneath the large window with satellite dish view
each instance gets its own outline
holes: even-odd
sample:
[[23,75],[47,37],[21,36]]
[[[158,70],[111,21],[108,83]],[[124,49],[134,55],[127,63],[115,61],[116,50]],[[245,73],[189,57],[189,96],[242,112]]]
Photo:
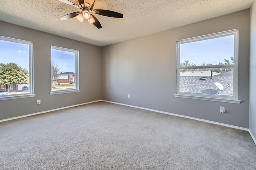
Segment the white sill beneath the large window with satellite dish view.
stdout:
[[240,104],[241,100],[232,100],[232,99],[222,99],[222,98],[210,98],[210,97],[202,97],[202,96],[189,96],[184,94],[174,94],[177,98],[189,98],[189,99],[198,99],[198,100],[210,100],[215,102],[226,102],[226,103],[234,103]]

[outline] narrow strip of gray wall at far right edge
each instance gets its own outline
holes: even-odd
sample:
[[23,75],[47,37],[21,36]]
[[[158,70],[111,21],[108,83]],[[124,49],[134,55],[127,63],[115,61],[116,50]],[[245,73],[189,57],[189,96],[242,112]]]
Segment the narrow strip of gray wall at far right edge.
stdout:
[[251,7],[251,49],[250,49],[250,130],[256,137],[256,1]]

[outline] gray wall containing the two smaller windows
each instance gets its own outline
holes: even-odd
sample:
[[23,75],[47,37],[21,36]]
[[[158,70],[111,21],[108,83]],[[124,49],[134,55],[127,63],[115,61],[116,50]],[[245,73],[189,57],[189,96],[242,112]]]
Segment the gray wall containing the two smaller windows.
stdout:
[[[102,98],[102,49],[94,45],[0,21],[0,35],[34,43],[34,94],[32,98],[0,101],[0,119],[72,106]],[[51,45],[79,50],[80,92],[50,95]],[[8,56],[7,56],[8,57]],[[41,105],[36,100],[41,99]]]

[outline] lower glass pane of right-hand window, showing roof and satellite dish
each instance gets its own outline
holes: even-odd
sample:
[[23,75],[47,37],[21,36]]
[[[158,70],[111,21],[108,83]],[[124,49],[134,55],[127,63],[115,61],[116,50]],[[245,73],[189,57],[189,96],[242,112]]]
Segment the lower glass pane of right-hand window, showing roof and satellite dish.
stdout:
[[212,68],[212,72],[180,70],[180,92],[233,96],[233,74],[232,68]]

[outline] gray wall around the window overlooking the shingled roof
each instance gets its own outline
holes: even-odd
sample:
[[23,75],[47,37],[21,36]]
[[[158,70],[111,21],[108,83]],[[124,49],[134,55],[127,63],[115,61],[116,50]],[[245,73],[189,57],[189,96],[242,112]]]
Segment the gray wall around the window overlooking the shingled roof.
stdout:
[[[238,100],[242,103],[176,98],[176,41],[237,28]],[[247,9],[103,47],[102,99],[248,128],[249,44]],[[220,106],[227,113],[221,114]]]

